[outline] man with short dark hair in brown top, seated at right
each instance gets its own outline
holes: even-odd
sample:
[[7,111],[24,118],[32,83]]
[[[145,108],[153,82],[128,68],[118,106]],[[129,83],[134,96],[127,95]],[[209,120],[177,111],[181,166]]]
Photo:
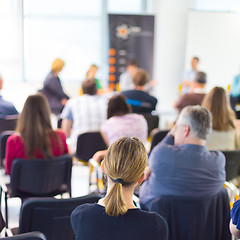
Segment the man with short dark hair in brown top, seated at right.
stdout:
[[186,106],[201,105],[205,96],[205,86],[207,83],[206,73],[198,72],[193,82],[193,91],[182,95],[174,103],[174,108],[181,112]]

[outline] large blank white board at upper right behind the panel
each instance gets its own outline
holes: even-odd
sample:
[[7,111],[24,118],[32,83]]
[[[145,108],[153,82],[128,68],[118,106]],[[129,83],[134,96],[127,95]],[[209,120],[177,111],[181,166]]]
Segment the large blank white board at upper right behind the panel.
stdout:
[[239,26],[239,13],[189,12],[185,63],[199,56],[208,90],[216,85],[227,88],[240,71]]

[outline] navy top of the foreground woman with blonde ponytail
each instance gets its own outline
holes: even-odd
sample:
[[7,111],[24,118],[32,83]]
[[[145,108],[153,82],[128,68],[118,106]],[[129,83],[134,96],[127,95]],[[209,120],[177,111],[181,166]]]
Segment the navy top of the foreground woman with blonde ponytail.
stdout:
[[166,221],[158,214],[138,208],[111,217],[97,203],[83,204],[71,215],[76,240],[167,240]]

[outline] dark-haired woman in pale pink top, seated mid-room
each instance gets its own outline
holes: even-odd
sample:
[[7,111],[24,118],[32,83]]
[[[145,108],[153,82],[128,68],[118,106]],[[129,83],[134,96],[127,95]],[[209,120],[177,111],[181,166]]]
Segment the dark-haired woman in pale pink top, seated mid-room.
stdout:
[[107,120],[101,127],[101,134],[107,146],[121,137],[137,137],[142,142],[147,141],[147,121],[139,114],[131,113],[122,95],[110,98],[107,109]]

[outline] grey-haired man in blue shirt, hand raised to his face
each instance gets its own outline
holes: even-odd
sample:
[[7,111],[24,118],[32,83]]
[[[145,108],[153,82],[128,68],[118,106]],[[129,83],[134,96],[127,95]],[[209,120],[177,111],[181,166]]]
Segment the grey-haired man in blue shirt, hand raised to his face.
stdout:
[[152,151],[140,189],[140,203],[149,208],[163,195],[204,197],[216,194],[225,181],[225,157],[207,151],[211,113],[201,106],[185,107],[175,127]]

